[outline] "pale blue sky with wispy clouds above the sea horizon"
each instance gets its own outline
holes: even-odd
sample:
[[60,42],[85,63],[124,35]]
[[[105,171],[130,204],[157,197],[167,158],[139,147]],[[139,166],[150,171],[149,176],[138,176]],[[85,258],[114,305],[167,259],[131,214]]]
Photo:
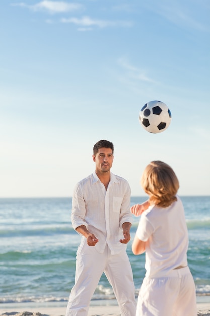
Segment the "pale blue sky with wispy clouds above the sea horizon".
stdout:
[[[180,195],[209,195],[209,15],[208,0],[2,0],[1,196],[72,196],[100,139],[133,196],[157,159]],[[138,122],[152,100],[171,110],[163,133]]]

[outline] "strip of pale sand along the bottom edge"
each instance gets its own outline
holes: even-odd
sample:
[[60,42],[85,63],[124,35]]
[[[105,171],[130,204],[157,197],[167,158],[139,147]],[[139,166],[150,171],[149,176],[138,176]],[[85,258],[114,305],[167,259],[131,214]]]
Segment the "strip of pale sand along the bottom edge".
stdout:
[[[64,316],[66,304],[56,306],[54,304],[7,304],[0,305],[0,315],[4,316]],[[13,305],[13,306],[11,306]],[[197,303],[198,316],[210,316],[209,303]],[[88,316],[120,316],[117,305],[94,305],[90,306]]]

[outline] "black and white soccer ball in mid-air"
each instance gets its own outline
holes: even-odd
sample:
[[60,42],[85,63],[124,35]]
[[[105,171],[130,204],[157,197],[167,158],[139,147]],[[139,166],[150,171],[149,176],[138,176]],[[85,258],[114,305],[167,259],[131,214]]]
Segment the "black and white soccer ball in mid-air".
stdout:
[[171,111],[160,101],[150,101],[139,112],[139,121],[142,127],[150,133],[161,133],[171,123]]

